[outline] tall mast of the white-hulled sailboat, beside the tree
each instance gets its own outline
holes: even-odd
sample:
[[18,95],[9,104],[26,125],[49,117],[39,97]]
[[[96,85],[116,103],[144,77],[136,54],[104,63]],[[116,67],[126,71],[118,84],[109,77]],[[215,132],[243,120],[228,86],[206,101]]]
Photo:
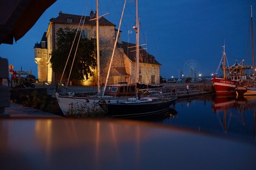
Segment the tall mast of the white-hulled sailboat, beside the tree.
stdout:
[[100,94],[100,37],[99,37],[99,0],[96,2],[96,36],[97,36],[97,74],[98,93]]

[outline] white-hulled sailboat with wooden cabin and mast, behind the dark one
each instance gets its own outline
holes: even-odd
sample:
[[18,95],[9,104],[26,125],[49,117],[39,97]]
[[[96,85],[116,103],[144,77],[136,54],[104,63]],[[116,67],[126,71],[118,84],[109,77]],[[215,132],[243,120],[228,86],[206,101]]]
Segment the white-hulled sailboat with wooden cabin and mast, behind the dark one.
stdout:
[[[58,104],[65,116],[75,114],[97,114],[104,112],[99,106],[99,102],[116,103],[126,101],[128,97],[135,95],[134,84],[112,84],[107,89],[107,96],[102,97],[100,89],[100,42],[99,42],[99,1],[96,3],[96,34],[97,34],[97,74],[98,74],[98,93],[96,96],[79,97],[73,95],[61,95],[56,93]],[[120,22],[121,24],[121,22]],[[119,37],[117,34],[116,37]],[[128,96],[125,96],[125,94]]]

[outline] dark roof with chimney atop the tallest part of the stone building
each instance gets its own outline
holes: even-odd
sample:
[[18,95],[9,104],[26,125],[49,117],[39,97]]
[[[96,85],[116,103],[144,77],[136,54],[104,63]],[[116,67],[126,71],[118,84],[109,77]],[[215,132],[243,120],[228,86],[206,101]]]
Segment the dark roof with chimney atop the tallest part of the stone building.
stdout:
[[[90,21],[90,19],[94,18],[95,14],[91,11],[90,16],[78,16],[74,14],[67,14],[60,12],[57,18],[51,18],[50,22],[53,23],[66,23],[66,24],[79,24],[81,19],[85,18],[85,24],[96,25],[96,20]],[[72,18],[72,22],[68,22],[67,18]],[[101,17],[99,19],[100,26],[116,26],[114,23],[108,21],[106,18]]]

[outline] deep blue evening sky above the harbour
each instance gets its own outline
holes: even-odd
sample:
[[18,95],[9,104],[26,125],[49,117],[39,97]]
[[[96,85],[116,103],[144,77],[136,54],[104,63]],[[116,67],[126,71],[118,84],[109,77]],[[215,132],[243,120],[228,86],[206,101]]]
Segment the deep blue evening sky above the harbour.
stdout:
[[[124,0],[99,1],[99,14],[109,12],[105,18],[118,28]],[[140,0],[140,43],[146,43],[147,51],[163,65],[161,76],[166,78],[178,78],[190,59],[199,64],[203,76],[210,76],[219,65],[224,43],[229,64],[242,59],[252,64],[250,4],[256,18],[256,2],[252,0]],[[59,11],[88,16],[95,8],[95,0],[57,0],[24,37],[13,45],[0,44],[0,57],[7,58],[14,70],[32,69],[37,77],[33,47],[47,31],[49,20]],[[123,41],[135,43],[132,26],[135,2],[127,1],[121,26]],[[128,30],[132,31],[129,38]]]

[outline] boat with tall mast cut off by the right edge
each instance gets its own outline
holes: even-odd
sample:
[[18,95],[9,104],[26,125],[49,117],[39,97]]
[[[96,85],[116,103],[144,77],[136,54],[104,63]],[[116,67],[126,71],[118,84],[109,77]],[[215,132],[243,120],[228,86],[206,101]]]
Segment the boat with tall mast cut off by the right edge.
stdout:
[[252,63],[253,63],[253,78],[248,81],[241,80],[239,86],[235,88],[238,96],[256,95],[256,84],[255,84],[255,64],[254,64],[254,38],[253,38],[253,11],[252,5],[250,6],[250,21],[252,28]]

